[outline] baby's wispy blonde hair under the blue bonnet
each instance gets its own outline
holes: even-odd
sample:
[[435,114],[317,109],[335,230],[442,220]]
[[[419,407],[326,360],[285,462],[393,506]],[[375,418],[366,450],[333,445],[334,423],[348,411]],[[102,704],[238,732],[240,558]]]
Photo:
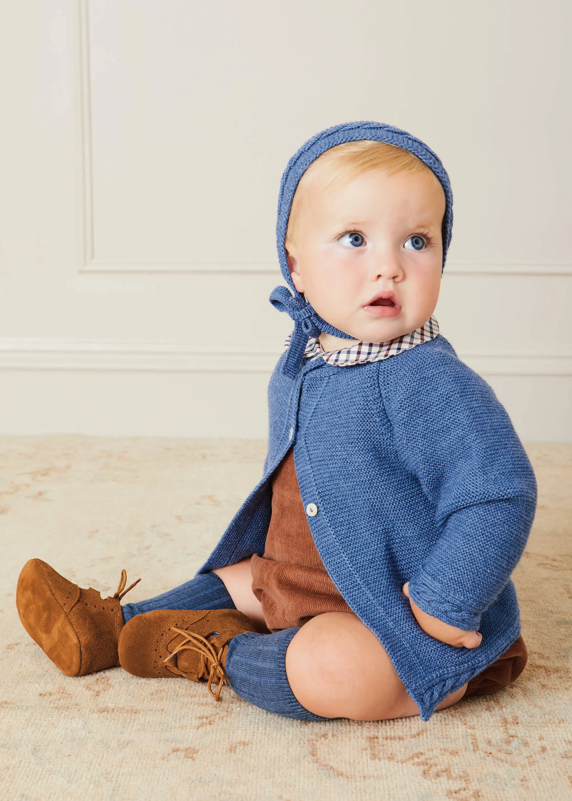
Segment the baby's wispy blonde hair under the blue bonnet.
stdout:
[[[324,190],[334,189],[368,170],[377,169],[385,170],[388,175],[394,175],[397,172],[413,173],[425,170],[441,186],[437,175],[421,159],[404,150],[403,147],[385,142],[372,142],[369,139],[336,145],[318,156],[300,178],[288,217],[288,230],[284,240],[286,248],[294,240],[296,224],[300,219],[300,211],[304,204],[304,191],[309,183],[316,179],[325,179],[322,188]],[[326,179],[328,175],[330,176],[329,180]]]

